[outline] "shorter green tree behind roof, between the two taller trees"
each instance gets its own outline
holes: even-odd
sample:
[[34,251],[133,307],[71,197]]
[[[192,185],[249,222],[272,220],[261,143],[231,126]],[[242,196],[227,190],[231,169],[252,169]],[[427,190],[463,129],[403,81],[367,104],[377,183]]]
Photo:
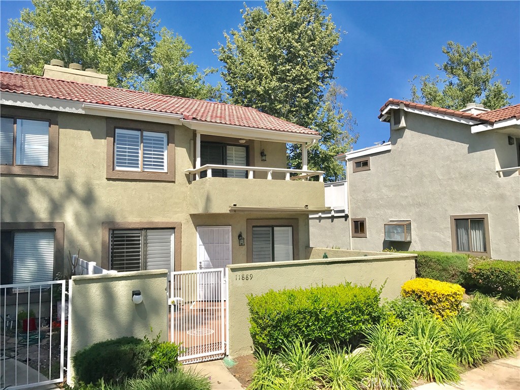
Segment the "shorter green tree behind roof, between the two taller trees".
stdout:
[[161,30],[160,37],[153,50],[153,73],[146,89],[158,94],[220,100],[220,83],[212,86],[205,82],[205,77],[218,72],[218,69],[199,72],[197,64],[188,62],[192,51],[183,37],[174,35],[166,28]]

